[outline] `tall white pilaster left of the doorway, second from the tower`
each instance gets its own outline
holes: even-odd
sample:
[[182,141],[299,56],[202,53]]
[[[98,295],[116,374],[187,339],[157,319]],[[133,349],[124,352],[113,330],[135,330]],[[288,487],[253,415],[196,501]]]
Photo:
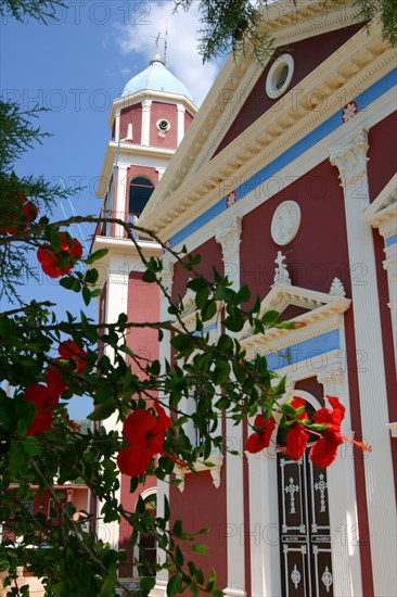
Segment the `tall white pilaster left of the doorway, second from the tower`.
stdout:
[[[229,276],[233,290],[240,289],[240,236],[241,218],[230,223],[230,227],[215,237],[222,246],[225,274]],[[241,449],[243,437],[242,423],[234,425],[227,419],[227,445],[234,450]],[[227,459],[227,552],[228,552],[228,586],[223,595],[228,597],[245,597],[245,541],[244,539],[244,484],[243,454],[226,455]]]

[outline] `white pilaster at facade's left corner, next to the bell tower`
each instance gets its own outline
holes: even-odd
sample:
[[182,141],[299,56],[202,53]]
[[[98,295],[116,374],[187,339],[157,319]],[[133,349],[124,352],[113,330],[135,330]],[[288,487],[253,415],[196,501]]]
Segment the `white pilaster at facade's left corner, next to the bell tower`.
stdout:
[[[172,289],[172,277],[174,277],[174,263],[167,258],[163,258],[163,274],[162,280],[163,284],[167,289],[167,292],[170,294]],[[162,293],[161,293],[162,294]],[[168,314],[169,303],[165,296],[161,295],[161,306],[159,306],[159,320],[167,321],[169,319]],[[163,370],[165,370],[165,360],[170,361],[170,332],[164,330],[163,340],[159,344],[159,363]],[[166,398],[166,396],[159,395],[159,398]],[[157,510],[156,516],[164,516],[164,499],[169,500],[169,483],[165,481],[157,480]],[[157,561],[164,563],[166,561],[166,554],[162,549],[157,550]],[[150,593],[153,597],[165,597],[167,593],[167,583],[168,583],[168,572],[166,570],[161,570],[156,574],[156,584],[153,590]]]

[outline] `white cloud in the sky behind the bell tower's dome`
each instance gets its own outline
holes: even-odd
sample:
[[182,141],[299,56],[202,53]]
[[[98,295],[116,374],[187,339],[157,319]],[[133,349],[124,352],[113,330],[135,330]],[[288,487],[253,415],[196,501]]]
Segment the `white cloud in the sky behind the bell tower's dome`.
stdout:
[[[116,41],[125,54],[139,53],[149,61],[156,51],[155,37],[161,31],[164,38],[168,28],[167,68],[174,73],[190,90],[194,102],[200,105],[213,85],[219,68],[219,62],[203,65],[197,52],[197,30],[201,27],[197,11],[198,2],[194,2],[189,12],[179,9],[172,13],[174,2],[170,0],[149,2],[146,14],[132,20],[135,23],[117,24]],[[164,41],[158,45],[164,54]]]

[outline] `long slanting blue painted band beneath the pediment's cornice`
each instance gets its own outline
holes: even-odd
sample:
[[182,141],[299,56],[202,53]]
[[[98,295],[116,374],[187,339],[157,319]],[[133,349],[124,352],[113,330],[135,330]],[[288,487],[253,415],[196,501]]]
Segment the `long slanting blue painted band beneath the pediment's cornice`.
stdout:
[[[377,100],[381,96],[386,93],[394,85],[397,84],[397,68],[385,75],[381,80],[369,87],[366,91],[355,98],[355,102],[358,105],[358,111],[367,109],[372,102]],[[311,149],[316,143],[320,142],[323,138],[331,132],[334,132],[337,128],[343,126],[342,110],[338,110],[333,116],[320,125],[317,129],[309,132],[304,139],[300,139],[295,145],[285,151],[282,155],[277,157],[273,162],[270,162],[267,166],[261,168],[258,173],[252,176],[243,185],[240,185],[234,189],[236,199],[240,201],[247,193],[259,187],[262,182],[271,178],[276,173],[284,168],[291,162],[303,155],[306,151]],[[203,226],[212,221],[219,214],[225,212],[226,196],[221,198],[215,205],[209,207],[204,214],[198,216],[179,230],[171,239],[171,246],[177,246],[180,242],[183,242],[188,237],[193,234],[196,230],[200,230]]]

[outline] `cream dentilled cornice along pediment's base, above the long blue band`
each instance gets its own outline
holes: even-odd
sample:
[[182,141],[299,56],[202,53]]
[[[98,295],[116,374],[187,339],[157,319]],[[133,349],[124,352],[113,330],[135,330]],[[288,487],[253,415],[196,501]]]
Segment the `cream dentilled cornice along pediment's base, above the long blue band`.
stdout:
[[[162,187],[153,193],[153,202],[151,199],[141,216],[142,221],[164,238],[170,238],[219,201],[226,178],[247,180],[341,110],[341,94],[346,102],[350,101],[389,72],[394,63],[395,52],[382,42],[379,23],[373,25],[371,37],[366,30],[359,31],[300,81],[298,100],[294,100],[294,90],[291,90],[284,96],[280,110],[265,113],[170,196],[166,196],[169,187],[164,189],[163,186],[170,173],[168,168]],[[323,105],[320,107],[316,105],[316,98],[311,102],[307,100],[312,89],[322,91]],[[180,163],[180,155],[178,152],[172,160],[172,172]]]

